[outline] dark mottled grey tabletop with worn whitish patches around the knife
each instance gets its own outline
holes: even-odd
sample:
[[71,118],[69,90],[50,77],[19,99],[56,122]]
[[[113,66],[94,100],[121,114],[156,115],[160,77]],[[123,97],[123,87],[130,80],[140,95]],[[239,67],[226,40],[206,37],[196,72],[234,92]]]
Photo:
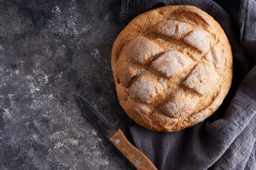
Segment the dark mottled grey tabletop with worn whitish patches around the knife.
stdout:
[[118,0],[0,0],[0,169],[134,170],[83,115],[80,94],[132,141],[112,44]]

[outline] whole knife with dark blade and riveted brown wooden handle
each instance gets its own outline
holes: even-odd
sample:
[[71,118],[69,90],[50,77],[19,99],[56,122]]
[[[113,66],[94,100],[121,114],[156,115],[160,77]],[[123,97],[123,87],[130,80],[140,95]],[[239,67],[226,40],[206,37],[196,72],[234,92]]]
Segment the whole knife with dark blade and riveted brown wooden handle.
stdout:
[[138,148],[133,146],[125,137],[121,129],[115,128],[105,117],[99,113],[85,98],[77,95],[79,102],[83,108],[85,116],[101,130],[114,144],[118,150],[132,163],[137,170],[157,170],[155,165],[148,157]]

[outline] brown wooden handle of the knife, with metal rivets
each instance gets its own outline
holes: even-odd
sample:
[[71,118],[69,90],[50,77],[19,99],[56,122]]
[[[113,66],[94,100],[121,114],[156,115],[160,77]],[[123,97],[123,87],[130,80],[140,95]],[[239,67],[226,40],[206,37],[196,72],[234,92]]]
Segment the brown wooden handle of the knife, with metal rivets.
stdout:
[[109,140],[121,151],[132,165],[137,168],[137,170],[157,170],[150,159],[128,141],[121,129],[118,129]]

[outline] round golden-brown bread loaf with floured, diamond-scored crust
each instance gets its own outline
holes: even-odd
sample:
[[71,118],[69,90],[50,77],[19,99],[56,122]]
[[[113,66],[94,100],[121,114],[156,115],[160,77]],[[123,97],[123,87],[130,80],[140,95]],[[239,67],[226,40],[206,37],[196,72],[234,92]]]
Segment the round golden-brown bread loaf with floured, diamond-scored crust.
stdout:
[[221,26],[197,7],[166,6],[134,18],[113,44],[119,103],[145,128],[174,132],[204,121],[231,86]]

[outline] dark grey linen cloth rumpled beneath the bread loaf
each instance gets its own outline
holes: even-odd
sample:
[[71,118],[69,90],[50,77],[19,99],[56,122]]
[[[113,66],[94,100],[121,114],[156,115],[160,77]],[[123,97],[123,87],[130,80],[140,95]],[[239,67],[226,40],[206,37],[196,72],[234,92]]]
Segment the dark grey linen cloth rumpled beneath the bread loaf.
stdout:
[[191,128],[166,133],[132,126],[135,146],[159,170],[256,170],[256,1],[122,0],[120,20],[176,4],[206,11],[224,29],[234,58],[231,90],[213,115]]

